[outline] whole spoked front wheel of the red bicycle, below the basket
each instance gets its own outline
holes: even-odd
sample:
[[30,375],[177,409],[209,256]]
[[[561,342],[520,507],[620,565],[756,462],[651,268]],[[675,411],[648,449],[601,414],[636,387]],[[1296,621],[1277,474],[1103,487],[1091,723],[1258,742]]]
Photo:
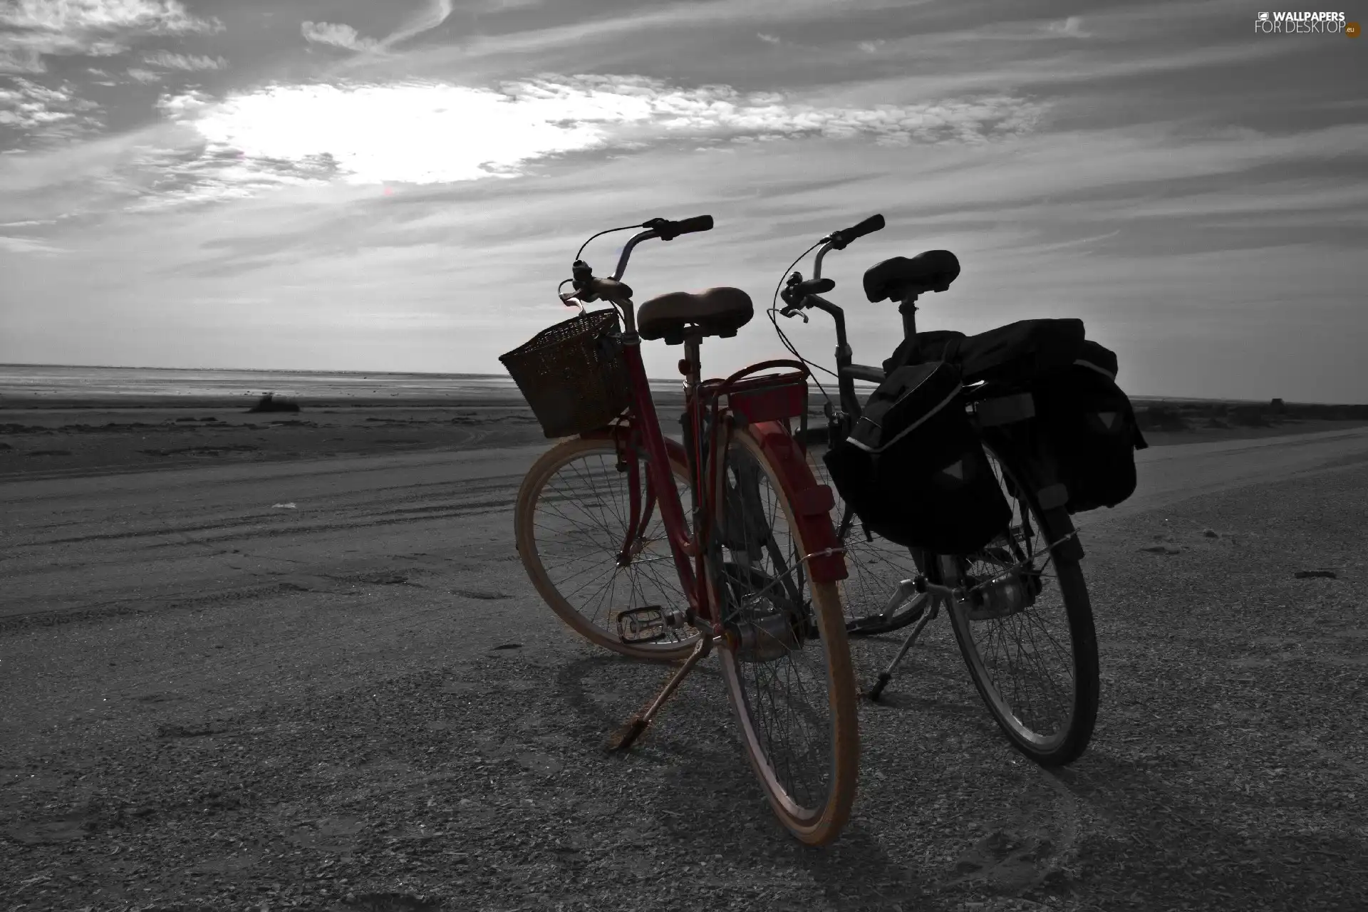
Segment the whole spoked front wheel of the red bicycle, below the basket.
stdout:
[[[646,454],[637,459],[637,503],[644,505]],[[658,606],[680,615],[688,599],[659,505],[648,517],[639,509],[636,535],[627,541],[632,474],[618,470],[617,461],[617,447],[607,439],[572,439],[547,450],[518,491],[513,517],[518,555],[538,593],[586,640],[633,659],[683,659],[698,640],[694,628],[665,630],[650,643],[627,641],[620,632],[624,610]],[[688,468],[676,462],[670,472],[687,505]]]

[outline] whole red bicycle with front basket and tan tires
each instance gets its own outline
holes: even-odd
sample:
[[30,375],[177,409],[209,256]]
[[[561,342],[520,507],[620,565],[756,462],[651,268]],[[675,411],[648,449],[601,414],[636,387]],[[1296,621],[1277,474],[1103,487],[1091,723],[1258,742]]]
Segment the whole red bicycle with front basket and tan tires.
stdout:
[[[536,591],[587,640],[683,659],[614,749],[631,747],[715,649],[774,814],[800,841],[822,845],[850,819],[859,734],[834,500],[795,436],[795,423],[806,431],[807,368],[765,361],[700,380],[702,340],[735,336],[754,316],[751,298],[718,287],[636,308],[621,280],[642,241],[711,227],[699,216],[610,228],[643,231],[611,278],[594,276],[581,246],[566,280],[573,291],[561,294],[580,314],[503,356],[546,436],[568,438],[523,481],[517,548]],[[596,301],[611,308],[584,312]],[[661,429],[642,339],[683,346],[683,443]]]

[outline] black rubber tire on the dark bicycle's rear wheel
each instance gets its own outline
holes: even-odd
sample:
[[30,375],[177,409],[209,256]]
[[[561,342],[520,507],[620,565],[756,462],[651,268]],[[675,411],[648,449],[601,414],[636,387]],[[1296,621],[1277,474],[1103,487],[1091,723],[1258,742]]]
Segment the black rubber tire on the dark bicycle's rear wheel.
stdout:
[[[1031,514],[1036,528],[1044,531],[1047,540],[1056,540],[1057,535],[1044,520],[1044,511],[1036,500],[1031,484],[1023,484],[1026,479],[1018,465],[1011,458],[1004,458],[990,446],[985,444],[989,457],[996,459],[1003,473],[1010,476],[1016,489],[1018,505],[1025,505]],[[1015,510],[1014,510],[1015,513]],[[1088,749],[1092,740],[1093,726],[1097,722],[1099,703],[1099,662],[1097,662],[1097,633],[1093,625],[1092,604],[1088,598],[1088,582],[1078,561],[1059,558],[1053,555],[1049,563],[1055,566],[1055,578],[1059,582],[1059,593],[1064,607],[1070,636],[1070,658],[1073,662],[1073,697],[1067,726],[1062,732],[1044,737],[1041,733],[1027,727],[1026,722],[1008,706],[1001,688],[993,682],[986,667],[982,651],[974,640],[970,629],[970,619],[966,606],[949,606],[951,626],[955,630],[955,640],[959,643],[960,655],[969,666],[970,678],[974,688],[988,707],[989,715],[1011,741],[1012,747],[1029,756],[1036,763],[1045,767],[1057,767],[1073,763]],[[1034,606],[1031,606],[1034,607]],[[1012,615],[1021,617],[1030,608]],[[1019,644],[1021,648],[1021,644]],[[1034,645],[1030,647],[1034,649]],[[1040,666],[1037,666],[1040,667]]]

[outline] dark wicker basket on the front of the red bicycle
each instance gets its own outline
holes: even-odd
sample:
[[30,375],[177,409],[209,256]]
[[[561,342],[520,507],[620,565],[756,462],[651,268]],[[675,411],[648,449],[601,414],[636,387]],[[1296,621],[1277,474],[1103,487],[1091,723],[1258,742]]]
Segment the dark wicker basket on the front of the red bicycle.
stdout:
[[549,438],[601,428],[632,398],[616,309],[547,327],[499,361]]

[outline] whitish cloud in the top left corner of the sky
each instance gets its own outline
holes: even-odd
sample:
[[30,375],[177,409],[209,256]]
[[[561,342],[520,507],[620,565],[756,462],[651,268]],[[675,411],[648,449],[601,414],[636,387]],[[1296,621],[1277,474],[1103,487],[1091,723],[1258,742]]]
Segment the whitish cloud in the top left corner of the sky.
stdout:
[[44,71],[44,56],[114,56],[140,37],[219,31],[179,0],[8,0],[0,3],[0,68]]

